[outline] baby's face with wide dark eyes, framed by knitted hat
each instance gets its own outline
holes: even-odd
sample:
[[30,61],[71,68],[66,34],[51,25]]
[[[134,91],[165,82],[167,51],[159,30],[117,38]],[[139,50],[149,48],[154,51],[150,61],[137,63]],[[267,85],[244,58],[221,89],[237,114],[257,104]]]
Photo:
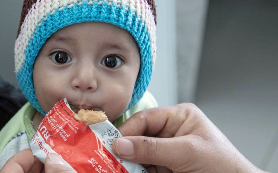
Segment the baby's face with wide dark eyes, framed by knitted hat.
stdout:
[[67,98],[76,108],[106,111],[112,122],[128,106],[139,69],[139,48],[128,31],[102,22],[73,24],[41,48],[35,94],[45,112]]

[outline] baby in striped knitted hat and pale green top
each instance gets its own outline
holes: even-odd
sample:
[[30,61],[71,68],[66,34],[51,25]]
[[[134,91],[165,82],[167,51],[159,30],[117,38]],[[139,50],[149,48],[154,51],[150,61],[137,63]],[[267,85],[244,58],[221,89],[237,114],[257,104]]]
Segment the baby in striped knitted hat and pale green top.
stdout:
[[0,168],[29,141],[45,114],[67,98],[102,110],[118,127],[157,106],[146,91],[156,58],[153,0],[25,0],[15,72],[27,100],[0,131]]

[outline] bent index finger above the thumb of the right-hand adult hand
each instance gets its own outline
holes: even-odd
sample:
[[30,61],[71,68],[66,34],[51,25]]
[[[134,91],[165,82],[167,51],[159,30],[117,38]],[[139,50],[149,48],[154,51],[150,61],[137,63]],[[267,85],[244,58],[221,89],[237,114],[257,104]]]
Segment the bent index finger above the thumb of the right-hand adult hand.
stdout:
[[186,120],[181,105],[151,108],[137,112],[118,129],[123,136],[174,137]]

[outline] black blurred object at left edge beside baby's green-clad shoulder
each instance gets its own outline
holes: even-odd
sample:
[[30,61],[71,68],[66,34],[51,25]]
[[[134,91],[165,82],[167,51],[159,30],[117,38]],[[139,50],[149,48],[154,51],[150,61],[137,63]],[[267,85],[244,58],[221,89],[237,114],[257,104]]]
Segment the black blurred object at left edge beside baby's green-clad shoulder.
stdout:
[[0,76],[0,130],[26,102],[21,90]]

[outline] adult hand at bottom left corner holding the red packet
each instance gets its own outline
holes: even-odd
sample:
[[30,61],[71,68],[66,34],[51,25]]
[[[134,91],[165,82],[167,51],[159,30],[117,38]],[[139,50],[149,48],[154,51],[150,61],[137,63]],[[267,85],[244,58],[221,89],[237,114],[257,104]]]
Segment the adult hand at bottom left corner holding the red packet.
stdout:
[[75,170],[65,166],[61,157],[54,153],[47,156],[43,170],[43,163],[33,155],[30,149],[24,149],[12,156],[0,170],[0,173],[23,172],[76,173]]

